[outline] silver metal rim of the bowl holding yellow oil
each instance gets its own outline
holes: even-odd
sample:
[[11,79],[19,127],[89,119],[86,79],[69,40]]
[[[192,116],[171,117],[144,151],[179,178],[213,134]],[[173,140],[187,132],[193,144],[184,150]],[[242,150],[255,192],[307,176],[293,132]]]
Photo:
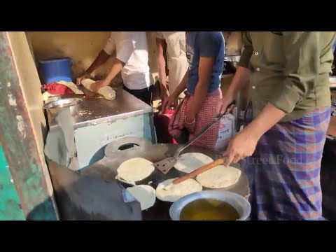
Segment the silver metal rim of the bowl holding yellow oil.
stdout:
[[250,203],[241,195],[237,193],[231,193],[226,190],[203,190],[199,193],[192,193],[181,197],[180,200],[174,202],[172,207],[169,209],[170,218],[173,221],[180,221],[180,214],[184,207],[190,202],[200,199],[213,199],[227,202],[232,207],[235,207],[240,218],[237,221],[246,221],[248,216],[251,214]]

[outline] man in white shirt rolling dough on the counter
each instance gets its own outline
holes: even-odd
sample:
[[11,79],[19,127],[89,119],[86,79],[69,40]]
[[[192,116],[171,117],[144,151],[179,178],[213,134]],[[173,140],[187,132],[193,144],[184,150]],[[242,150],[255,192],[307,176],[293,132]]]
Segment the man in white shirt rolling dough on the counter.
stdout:
[[148,66],[146,31],[111,31],[104,50],[99,52],[83,76],[77,79],[77,84],[80,85],[83,78],[90,78],[91,73],[104,64],[111,55],[116,55],[113,57],[111,71],[103,80],[93,83],[92,90],[97,92],[99,88],[109,85],[121,71],[124,90],[151,105],[153,76]]

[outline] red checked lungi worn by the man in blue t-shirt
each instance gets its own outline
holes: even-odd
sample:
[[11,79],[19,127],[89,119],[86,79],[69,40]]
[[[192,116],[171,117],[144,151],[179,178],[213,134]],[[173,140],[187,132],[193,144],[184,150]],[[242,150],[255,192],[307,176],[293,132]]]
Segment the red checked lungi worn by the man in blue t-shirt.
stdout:
[[[205,100],[202,109],[197,113],[196,116],[196,125],[195,125],[195,133],[190,134],[189,139],[195,137],[195,134],[200,132],[204,127],[206,127],[211,121],[216,118],[216,109],[218,106],[218,102],[222,98],[221,89],[215,90],[208,95]],[[174,137],[174,139],[179,139],[181,136],[181,130],[184,127],[184,119],[186,118],[186,114],[188,109],[193,102],[194,96],[187,94],[183,99],[183,102],[176,109],[174,115],[172,116],[172,120],[169,123],[168,130],[169,134]],[[218,137],[219,123],[212,126],[202,137],[197,139],[193,143],[193,146],[200,146],[205,148],[214,148],[216,145],[217,137]]]

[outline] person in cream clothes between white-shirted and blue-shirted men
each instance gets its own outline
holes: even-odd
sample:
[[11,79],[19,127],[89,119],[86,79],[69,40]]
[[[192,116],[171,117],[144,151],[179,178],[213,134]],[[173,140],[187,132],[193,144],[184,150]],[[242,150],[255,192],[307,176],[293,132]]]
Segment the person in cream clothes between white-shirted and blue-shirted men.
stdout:
[[[164,101],[181,83],[188,70],[186,31],[157,31],[156,45],[158,47],[161,99]],[[168,85],[167,75],[169,76]],[[179,97],[183,98],[183,96],[182,92]]]

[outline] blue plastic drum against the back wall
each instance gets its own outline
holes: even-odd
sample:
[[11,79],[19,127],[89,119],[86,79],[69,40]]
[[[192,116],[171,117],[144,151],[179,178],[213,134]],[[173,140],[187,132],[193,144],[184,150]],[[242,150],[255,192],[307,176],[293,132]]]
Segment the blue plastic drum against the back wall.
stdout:
[[72,81],[71,59],[66,57],[62,59],[48,59],[39,62],[40,71],[43,75],[44,84],[57,81]]

